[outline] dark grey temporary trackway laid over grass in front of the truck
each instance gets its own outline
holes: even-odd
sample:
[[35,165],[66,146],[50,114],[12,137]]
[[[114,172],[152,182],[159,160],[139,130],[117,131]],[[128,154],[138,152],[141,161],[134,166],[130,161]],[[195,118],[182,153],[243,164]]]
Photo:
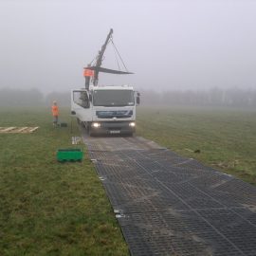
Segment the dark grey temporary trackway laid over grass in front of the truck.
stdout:
[[82,138],[131,255],[256,255],[256,187],[142,137]]

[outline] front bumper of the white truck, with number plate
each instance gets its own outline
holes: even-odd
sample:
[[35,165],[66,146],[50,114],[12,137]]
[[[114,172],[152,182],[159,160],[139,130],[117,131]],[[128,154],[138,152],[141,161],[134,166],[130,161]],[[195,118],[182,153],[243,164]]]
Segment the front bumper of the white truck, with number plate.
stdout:
[[91,126],[92,135],[125,135],[133,134],[136,131],[135,126],[130,126],[130,123],[134,121],[101,121],[100,127]]

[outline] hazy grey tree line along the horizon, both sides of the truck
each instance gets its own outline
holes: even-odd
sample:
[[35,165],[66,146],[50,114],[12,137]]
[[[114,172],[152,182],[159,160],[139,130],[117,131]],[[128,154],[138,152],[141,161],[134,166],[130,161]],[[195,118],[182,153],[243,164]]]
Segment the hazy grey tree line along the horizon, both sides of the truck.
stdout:
[[[142,105],[192,105],[255,107],[256,89],[218,87],[209,90],[140,90]],[[51,92],[44,95],[39,89],[0,89],[0,106],[48,106],[52,101],[70,106],[70,92]]]

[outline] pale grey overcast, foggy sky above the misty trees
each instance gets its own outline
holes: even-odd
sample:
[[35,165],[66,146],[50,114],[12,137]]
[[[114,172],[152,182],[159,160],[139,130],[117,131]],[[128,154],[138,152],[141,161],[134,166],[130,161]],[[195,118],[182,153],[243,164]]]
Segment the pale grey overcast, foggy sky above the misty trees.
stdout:
[[[0,88],[81,88],[112,27],[136,74],[100,83],[256,89],[255,13],[249,0],[0,0]],[[102,66],[118,68],[111,45]]]

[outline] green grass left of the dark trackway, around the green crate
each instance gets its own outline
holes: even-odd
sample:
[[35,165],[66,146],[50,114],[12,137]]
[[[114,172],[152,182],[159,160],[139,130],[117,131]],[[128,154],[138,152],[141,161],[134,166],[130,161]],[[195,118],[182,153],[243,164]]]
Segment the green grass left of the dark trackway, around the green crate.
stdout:
[[77,126],[54,129],[46,109],[1,110],[0,126],[40,126],[0,134],[0,255],[128,255],[86,152],[82,163],[56,161]]

